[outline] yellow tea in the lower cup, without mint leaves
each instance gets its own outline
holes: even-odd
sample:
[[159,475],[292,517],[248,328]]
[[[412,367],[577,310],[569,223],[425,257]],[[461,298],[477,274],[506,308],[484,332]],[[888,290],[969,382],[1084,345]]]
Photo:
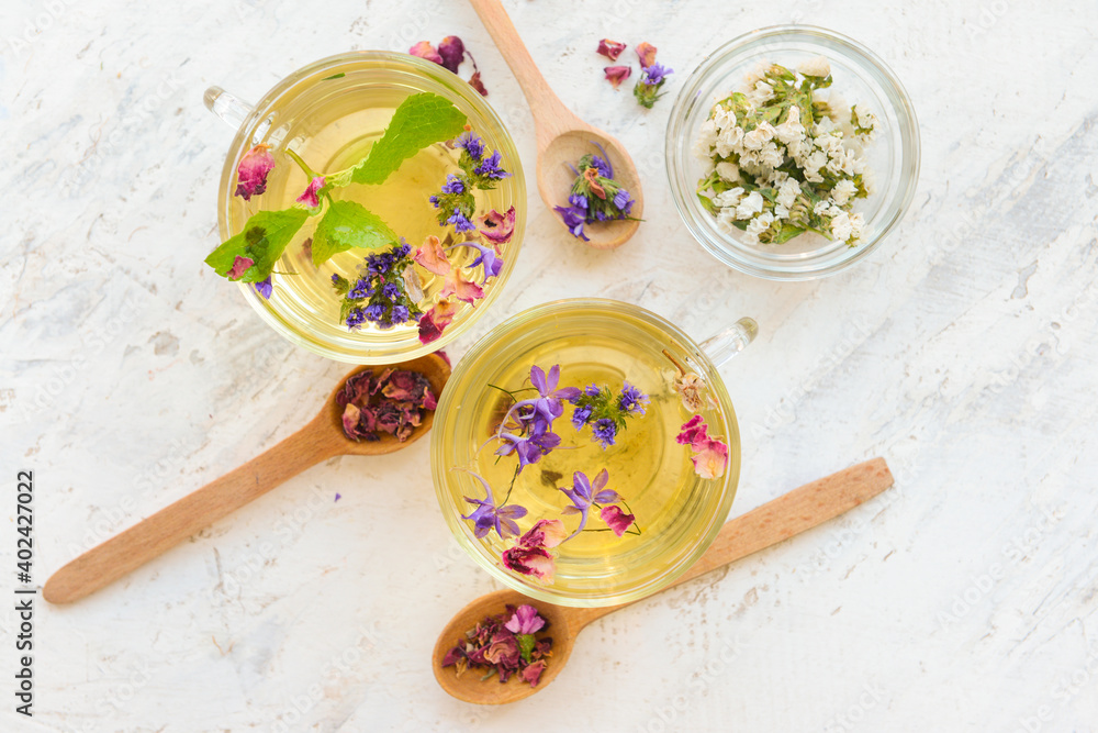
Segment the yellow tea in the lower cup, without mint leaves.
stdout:
[[[593,507],[585,531],[560,545],[562,560],[592,560],[639,549],[653,537],[673,533],[680,513],[691,499],[696,501],[697,497],[719,490],[724,485],[724,478],[699,478],[693,470],[688,446],[675,442],[682,424],[692,413],[686,412],[672,388],[677,371],[656,345],[661,344],[653,342],[640,346],[626,340],[593,340],[585,335],[552,340],[516,358],[498,374],[498,381],[492,381],[515,391],[529,387],[531,365],[537,364],[548,371],[553,364],[560,364],[559,387],[582,389],[594,384],[600,388],[609,387],[618,395],[623,381],[627,380],[650,398],[646,414],[627,418],[627,427],[618,431],[615,444],[606,449],[592,440],[590,425],[576,431],[571,423],[573,407],[565,402],[564,414],[553,423],[553,432],[561,436],[561,446],[539,463],[526,466],[515,479],[507,502],[529,510],[519,522],[524,531],[539,519],[561,519],[569,533],[576,529],[579,515],[561,514],[571,500],[557,490],[557,487],[572,486],[574,471],[583,471],[589,479],[594,479],[606,469],[609,474],[606,488],[617,491],[636,517],[640,534],[626,533],[618,537],[609,531],[590,531],[606,529],[598,517],[598,509]],[[679,354],[676,358],[682,363],[684,355]],[[478,422],[478,444],[492,437],[506,407],[512,403],[509,397],[497,393],[500,398],[493,408],[485,411]],[[536,392],[530,390],[516,397],[525,399],[534,395]],[[703,417],[712,426],[712,434],[719,435],[722,430],[720,413],[709,410]],[[496,460],[494,449],[498,445],[498,441],[493,441],[480,451],[473,462],[473,470],[489,481],[496,499],[502,501],[514,476],[517,457]],[[738,451],[739,446],[730,447]],[[494,533],[486,541],[501,547],[513,542],[503,542]]]

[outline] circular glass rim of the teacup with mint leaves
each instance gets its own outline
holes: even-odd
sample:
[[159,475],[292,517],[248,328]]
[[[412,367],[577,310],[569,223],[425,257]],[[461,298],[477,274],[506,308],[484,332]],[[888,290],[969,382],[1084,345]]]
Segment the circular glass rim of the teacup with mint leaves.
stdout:
[[[478,114],[481,115],[492,127],[500,131],[500,147],[509,148],[502,149],[501,152],[504,152],[505,155],[508,156],[508,170],[512,174],[508,179],[508,185],[515,187],[514,202],[516,209],[515,231],[511,243],[507,245],[509,247],[509,256],[506,258],[502,271],[496,277],[495,282],[492,285],[492,288],[488,291],[484,299],[478,301],[477,309],[470,312],[470,316],[464,318],[460,322],[456,321],[450,327],[447,327],[442,335],[436,341],[419,344],[418,346],[406,351],[393,351],[386,345],[379,345],[378,347],[363,347],[360,351],[345,352],[327,341],[311,338],[307,334],[300,333],[299,330],[285,323],[280,318],[278,312],[274,311],[273,308],[269,307],[267,301],[258,292],[256,292],[255,288],[250,287],[249,284],[238,282],[237,286],[238,290],[244,296],[244,299],[251,306],[253,310],[256,311],[259,318],[268,326],[270,326],[272,331],[279,334],[279,336],[285,338],[295,346],[300,346],[305,351],[335,362],[343,362],[347,364],[385,364],[392,362],[394,358],[397,360],[412,359],[437,352],[445,348],[446,345],[451,343],[455,338],[458,338],[468,332],[469,329],[471,329],[472,325],[483,316],[483,313],[498,299],[511,277],[512,270],[515,267],[518,254],[522,251],[522,244],[526,235],[526,175],[523,169],[522,158],[519,156],[518,148],[515,146],[515,141],[512,137],[511,132],[507,130],[507,126],[504,124],[503,119],[486,99],[473,90],[472,87],[469,87],[468,82],[445,67],[417,56],[392,51],[374,49],[347,51],[333,54],[291,71],[268,89],[251,105],[251,111],[240,123],[233,136],[233,141],[225,155],[225,162],[222,166],[221,180],[219,185],[217,229],[222,241],[232,236],[228,229],[228,219],[229,207],[233,202],[232,181],[233,176],[235,175],[234,163],[244,151],[248,149],[257,142],[256,129],[257,126],[261,129],[260,120],[269,115],[277,101],[295,85],[301,84],[303,80],[318,73],[363,58],[377,60],[382,64],[386,62],[400,64],[405,67],[411,67],[417,74],[428,79],[437,79],[444,82],[449,82],[447,86],[452,87],[458,97],[462,98],[472,108],[474,108]],[[456,84],[455,80],[460,84]],[[466,87],[469,87],[469,89],[466,90]],[[260,136],[262,134],[266,134],[266,130],[262,131]]]

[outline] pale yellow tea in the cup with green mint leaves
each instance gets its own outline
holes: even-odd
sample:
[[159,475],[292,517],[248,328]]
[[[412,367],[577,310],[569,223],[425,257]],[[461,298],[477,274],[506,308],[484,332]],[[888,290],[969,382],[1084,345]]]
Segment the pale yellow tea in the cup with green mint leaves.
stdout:
[[[351,66],[347,67],[348,78],[351,77]],[[336,85],[334,80],[324,82]],[[334,90],[335,87],[318,88]],[[315,97],[317,87],[309,88]],[[279,136],[281,145],[276,145],[276,167],[268,178],[266,192],[254,197],[251,201],[236,210],[231,227],[233,232],[243,229],[247,216],[260,209],[280,210],[294,204],[309,185],[309,178],[288,156],[279,152],[289,147],[321,174],[330,174],[349,168],[369,153],[373,143],[384,133],[393,116],[393,112],[407,97],[408,90],[389,87],[354,88],[340,93],[332,92],[329,97],[317,100],[310,97],[306,90],[296,96],[288,96],[281,103],[281,115],[285,120]],[[277,131],[279,132],[279,131]],[[478,134],[481,131],[474,130]],[[272,137],[274,134],[272,133]],[[489,144],[491,141],[485,138]],[[491,149],[491,147],[489,148]],[[447,174],[458,173],[458,154],[460,149],[450,149],[445,144],[436,144],[421,151],[415,156],[404,160],[401,167],[383,184],[365,186],[351,184],[345,188],[335,189],[332,197],[337,200],[355,201],[369,211],[378,214],[397,236],[403,236],[415,247],[423,244],[428,235],[438,236],[444,244],[464,241],[464,235],[455,234],[450,225],[440,226],[436,210],[427,200],[437,193],[446,181]],[[505,169],[508,160],[503,160]],[[477,213],[483,215],[490,209],[501,212],[511,206],[505,201],[500,189],[492,191],[475,191]],[[506,206],[505,206],[506,203]],[[346,325],[339,322],[340,298],[332,287],[332,275],[338,274],[355,281],[360,275],[358,268],[370,252],[383,249],[349,249],[332,257],[318,268],[314,267],[302,245],[313,236],[321,215],[310,218],[285,253],[274,267],[272,276],[272,304],[284,318],[296,321],[306,331],[341,332],[347,334]],[[447,240],[449,235],[449,240]],[[507,258],[507,245],[503,245],[504,259]],[[459,247],[448,253],[450,263],[457,266],[468,265],[478,253],[471,247]],[[442,287],[442,278],[426,269],[414,266],[424,291],[424,299],[417,304],[421,310],[428,310],[439,300],[438,291]],[[478,267],[463,273],[467,279],[481,284],[483,271]],[[488,295],[494,280],[484,286]],[[277,299],[277,301],[276,301]],[[469,304],[459,303],[457,320],[462,318]],[[399,341],[415,334],[417,325],[411,321],[381,332],[371,323],[363,323],[361,336],[385,334],[388,340]],[[414,337],[414,336],[413,336]]]

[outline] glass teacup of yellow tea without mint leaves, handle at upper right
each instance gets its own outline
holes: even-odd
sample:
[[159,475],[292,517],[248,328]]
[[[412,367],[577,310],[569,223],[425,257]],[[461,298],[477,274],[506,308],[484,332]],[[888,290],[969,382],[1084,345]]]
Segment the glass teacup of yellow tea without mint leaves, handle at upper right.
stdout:
[[[505,585],[562,606],[614,606],[672,582],[713,542],[736,495],[739,431],[717,366],[755,331],[754,321],[742,319],[698,345],[654,313],[600,299],[546,303],[494,329],[453,370],[432,434],[435,489],[458,542]],[[676,387],[685,385],[693,391],[684,397],[688,390]],[[576,396],[603,388],[612,411],[636,407],[632,398],[643,396],[608,443],[596,437]],[[523,407],[542,395],[546,401]],[[530,454],[519,457],[514,442],[536,410],[557,415],[551,432],[560,443],[527,463]],[[724,465],[705,464],[697,441],[683,440],[691,430],[697,437],[699,421],[703,435],[726,446]],[[569,509],[584,503],[574,500],[576,473],[592,487],[586,519]],[[489,490],[496,508],[511,507],[498,512],[500,529],[491,517],[478,529]],[[610,506],[618,509],[604,515]],[[624,514],[632,521],[619,534],[614,524]],[[560,520],[556,541],[542,543],[541,555],[553,560],[546,573],[545,558],[535,558],[541,564],[528,573],[512,560],[524,543],[545,540],[537,534],[541,519]],[[562,533],[570,537],[559,542]]]

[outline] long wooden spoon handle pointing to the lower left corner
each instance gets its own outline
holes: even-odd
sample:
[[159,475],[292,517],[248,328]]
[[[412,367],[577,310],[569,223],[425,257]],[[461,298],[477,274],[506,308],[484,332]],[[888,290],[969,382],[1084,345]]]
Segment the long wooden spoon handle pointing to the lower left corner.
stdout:
[[51,603],[79,600],[310,466],[337,455],[339,445],[330,432],[326,423],[314,420],[236,470],[89,549],[54,573],[42,590],[43,598]]

